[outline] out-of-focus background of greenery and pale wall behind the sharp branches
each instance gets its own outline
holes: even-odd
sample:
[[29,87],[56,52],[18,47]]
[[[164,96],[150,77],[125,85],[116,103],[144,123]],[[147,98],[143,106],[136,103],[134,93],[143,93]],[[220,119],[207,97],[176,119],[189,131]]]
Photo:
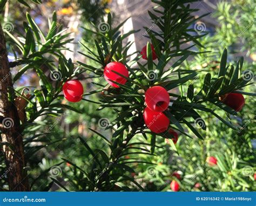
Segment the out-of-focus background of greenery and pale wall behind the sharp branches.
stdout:
[[[64,51],[66,58],[71,58],[73,63],[82,61],[88,65],[97,66],[97,63],[78,53],[78,51],[83,51],[78,41],[95,51],[92,39],[97,37],[86,29],[90,29],[91,24],[100,25],[109,12],[112,13],[116,24],[131,17],[122,27],[122,32],[133,29],[140,30],[129,39],[134,41],[129,50],[130,53],[140,51],[147,43],[146,31],[143,26],[149,28],[154,26],[147,13],[147,10],[151,10],[154,6],[150,0],[43,0],[43,4],[31,4],[30,6],[31,8],[28,10],[25,9],[25,6],[16,4],[15,1],[9,1],[5,8],[4,19],[2,19],[5,22],[4,26],[20,33],[24,32],[23,21],[26,20],[25,12],[28,11],[41,30],[46,31],[48,18],[51,18],[53,10],[56,10],[59,25],[68,28],[66,32],[72,32],[70,38],[74,38],[73,43],[66,45],[71,51]],[[209,13],[200,22],[191,25],[193,28],[197,28],[199,33],[208,32],[207,36],[200,39],[200,43],[204,45],[205,49],[197,47],[193,49],[195,51],[211,51],[198,54],[185,62],[186,69],[202,70],[198,79],[194,81],[194,85],[198,85],[199,88],[203,84],[206,72],[214,73],[218,70],[220,56],[225,47],[228,49],[228,61],[235,62],[240,56],[244,56],[245,70],[251,71],[251,78],[255,78],[253,75],[256,71],[255,1],[201,1],[193,3],[192,8],[199,9],[195,12],[196,16]],[[14,60],[12,54],[8,58],[10,61]],[[35,86],[36,84],[38,84],[37,75],[30,71],[25,73],[15,86]],[[86,92],[90,92],[96,87],[89,80],[84,80],[83,85]],[[255,92],[255,87],[251,85],[250,91],[247,92]],[[90,97],[90,100],[95,99],[97,99],[96,95]],[[105,131],[105,127],[99,124],[99,121],[105,118],[107,122],[111,122],[115,114],[107,109],[97,111],[97,105],[86,101],[72,104],[72,106],[82,111],[82,114],[66,111],[58,120],[48,116],[46,120],[49,125],[55,125],[51,127],[54,133],[46,134],[45,131],[48,127],[35,127],[34,130],[37,131],[37,134],[45,133],[43,138],[35,139],[28,145],[25,144],[26,155],[30,157],[29,175],[34,180],[32,190],[64,191],[65,189],[60,185],[70,191],[87,190],[80,171],[72,167],[70,163],[63,162],[63,159],[70,160],[85,171],[91,169],[92,156],[82,146],[80,139],[77,138],[78,135],[86,138],[91,148],[99,148],[108,152],[105,142],[92,133],[89,128],[110,138],[111,131]],[[226,115],[220,109],[218,112],[217,106],[212,109],[217,111],[220,116]],[[206,131],[202,131],[205,140],[194,138],[193,134],[190,134],[190,138],[179,134],[177,151],[174,151],[169,141],[157,139],[159,147],[156,148],[156,156],[144,156],[143,154],[125,156],[125,159],[136,157],[156,165],[136,164],[133,166],[134,171],[126,171],[126,175],[134,177],[147,191],[170,191],[172,180],[179,183],[181,191],[255,190],[255,110],[255,98],[246,96],[246,105],[240,112],[240,117],[230,116],[231,119],[236,120],[237,126],[241,127],[239,131],[229,129],[213,116],[202,114],[206,125],[208,125]],[[38,119],[38,121],[46,120]],[[138,135],[136,138],[139,140],[144,137]],[[150,140],[147,141],[150,142]],[[211,166],[206,162],[207,157],[210,156],[214,156],[218,160],[218,165]],[[1,167],[4,167],[3,163]],[[59,184],[50,184],[50,177],[56,178]],[[4,178],[1,179],[1,187],[8,188]],[[130,183],[129,187],[133,191],[138,190],[133,183]],[[119,191],[120,188],[116,186],[109,190]]]

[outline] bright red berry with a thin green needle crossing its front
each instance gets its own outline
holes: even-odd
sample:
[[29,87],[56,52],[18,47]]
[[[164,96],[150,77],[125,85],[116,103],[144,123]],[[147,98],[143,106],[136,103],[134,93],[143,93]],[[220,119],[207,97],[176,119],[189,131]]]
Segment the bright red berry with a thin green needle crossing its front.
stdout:
[[113,87],[119,88],[119,86],[117,84],[114,84],[112,81],[116,81],[117,83],[124,85],[127,79],[117,73],[114,73],[113,71],[122,74],[124,77],[129,77],[129,72],[125,65],[116,61],[111,62],[105,66],[104,78],[106,79],[107,83],[109,83]]

